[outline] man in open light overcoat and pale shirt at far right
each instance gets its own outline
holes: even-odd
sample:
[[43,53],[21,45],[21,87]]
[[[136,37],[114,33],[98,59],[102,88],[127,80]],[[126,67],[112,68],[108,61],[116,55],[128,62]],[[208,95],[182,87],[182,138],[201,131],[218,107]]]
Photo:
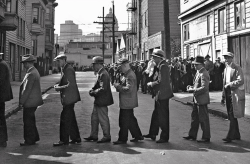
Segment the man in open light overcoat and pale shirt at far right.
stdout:
[[226,138],[222,140],[225,143],[230,143],[232,140],[241,139],[237,119],[245,115],[245,86],[242,68],[233,62],[234,54],[226,52],[223,56],[226,68],[223,77],[221,104],[223,106],[226,104],[230,125]]

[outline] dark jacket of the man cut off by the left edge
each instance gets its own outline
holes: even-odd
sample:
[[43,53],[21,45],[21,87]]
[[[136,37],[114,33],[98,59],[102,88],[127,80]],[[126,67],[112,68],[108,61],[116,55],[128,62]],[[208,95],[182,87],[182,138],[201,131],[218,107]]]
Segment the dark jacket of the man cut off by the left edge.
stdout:
[[13,99],[10,77],[10,70],[7,63],[4,60],[0,60],[0,102]]

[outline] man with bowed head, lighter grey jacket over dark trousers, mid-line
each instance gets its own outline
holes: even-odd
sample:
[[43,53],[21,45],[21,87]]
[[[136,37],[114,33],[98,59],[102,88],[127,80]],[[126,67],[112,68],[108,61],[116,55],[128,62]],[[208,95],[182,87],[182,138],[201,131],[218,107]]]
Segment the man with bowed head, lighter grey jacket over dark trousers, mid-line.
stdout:
[[143,140],[141,130],[134,115],[134,108],[138,107],[137,80],[136,75],[129,65],[128,59],[118,60],[120,69],[124,74],[121,83],[114,83],[116,91],[119,92],[119,138],[113,142],[115,145],[126,144],[128,140],[128,131],[134,139],[131,142]]

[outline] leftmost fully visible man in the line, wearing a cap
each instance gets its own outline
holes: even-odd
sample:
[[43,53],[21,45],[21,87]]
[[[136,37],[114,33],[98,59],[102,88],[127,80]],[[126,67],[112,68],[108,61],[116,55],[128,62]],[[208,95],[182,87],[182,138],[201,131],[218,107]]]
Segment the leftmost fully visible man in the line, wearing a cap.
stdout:
[[36,127],[35,111],[43,104],[40,74],[34,67],[35,57],[24,55],[21,63],[26,69],[26,75],[19,91],[19,107],[23,108],[24,142],[20,146],[34,145],[40,140]]

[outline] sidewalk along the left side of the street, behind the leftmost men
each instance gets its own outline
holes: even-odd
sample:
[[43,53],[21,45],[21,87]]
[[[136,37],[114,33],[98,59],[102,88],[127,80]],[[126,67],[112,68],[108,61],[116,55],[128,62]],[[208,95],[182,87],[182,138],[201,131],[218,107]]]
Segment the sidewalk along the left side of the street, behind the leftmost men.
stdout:
[[[42,94],[50,90],[51,87],[54,86],[55,83],[59,81],[60,77],[61,77],[60,74],[52,74],[52,75],[41,77],[40,82],[41,82]],[[16,81],[11,82],[11,87],[12,87],[14,98],[11,101],[5,102],[5,116],[6,117],[11,116],[13,113],[19,110],[18,102],[19,102],[20,85],[21,85],[21,82],[16,82]]]

